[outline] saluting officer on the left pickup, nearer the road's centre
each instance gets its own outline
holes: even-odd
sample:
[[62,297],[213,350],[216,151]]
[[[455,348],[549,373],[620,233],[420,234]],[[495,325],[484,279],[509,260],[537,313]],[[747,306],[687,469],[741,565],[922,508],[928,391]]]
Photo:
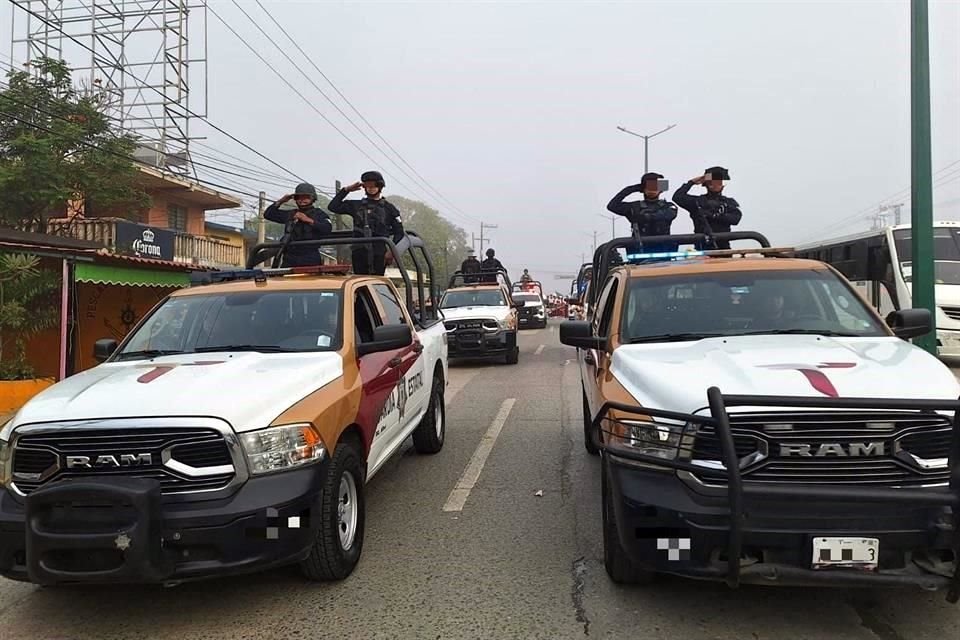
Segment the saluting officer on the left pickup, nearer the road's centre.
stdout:
[[[353,218],[355,238],[392,238],[394,243],[399,243],[405,235],[403,223],[400,211],[383,197],[385,186],[379,171],[367,171],[360,176],[360,182],[340,189],[327,208],[332,213]],[[362,200],[345,200],[348,194],[361,188],[366,194]],[[354,246],[353,272],[382,276],[387,268],[386,252],[387,246],[382,242]]]

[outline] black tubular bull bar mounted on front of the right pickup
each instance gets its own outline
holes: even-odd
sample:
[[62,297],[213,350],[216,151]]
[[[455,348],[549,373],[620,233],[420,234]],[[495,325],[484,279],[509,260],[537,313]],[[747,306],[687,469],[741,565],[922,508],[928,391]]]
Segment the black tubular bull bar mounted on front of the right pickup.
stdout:
[[[704,468],[692,464],[689,460],[681,460],[679,454],[685,449],[684,435],[688,423],[709,426],[714,430],[718,440],[723,472],[727,480],[727,503],[729,508],[729,532],[727,538],[727,570],[725,581],[728,586],[736,588],[740,585],[740,555],[743,546],[744,505],[751,500],[780,499],[788,501],[822,501],[822,502],[871,502],[887,504],[906,504],[911,506],[950,507],[953,515],[953,539],[951,547],[954,552],[954,572],[949,580],[947,601],[956,603],[960,600],[960,400],[911,400],[911,399],[880,399],[880,398],[814,398],[814,397],[782,397],[782,396],[751,396],[751,395],[724,395],[717,387],[707,390],[710,415],[694,415],[648,409],[636,405],[620,402],[606,402],[593,419],[593,438],[595,444],[605,453],[609,452],[619,458],[626,458],[644,464],[674,469],[677,471],[703,472]],[[953,411],[952,435],[948,468],[950,481],[946,487],[930,487],[922,489],[894,488],[894,487],[858,487],[858,486],[817,486],[803,485],[798,491],[796,484],[782,483],[744,483],[740,469],[740,461],[734,445],[733,431],[730,426],[728,407],[790,407],[811,409],[887,409],[887,410],[914,410],[914,411]],[[674,448],[677,456],[672,459],[648,455],[638,451],[630,451],[626,446],[611,447],[598,439],[600,433],[610,434],[603,430],[604,421],[609,421],[610,411],[623,414],[649,416],[680,422],[680,439],[675,445],[664,445],[664,448]],[[656,422],[655,429],[672,431],[669,425]],[[689,450],[689,449],[687,449]],[[832,574],[837,582],[843,582],[844,575]]]

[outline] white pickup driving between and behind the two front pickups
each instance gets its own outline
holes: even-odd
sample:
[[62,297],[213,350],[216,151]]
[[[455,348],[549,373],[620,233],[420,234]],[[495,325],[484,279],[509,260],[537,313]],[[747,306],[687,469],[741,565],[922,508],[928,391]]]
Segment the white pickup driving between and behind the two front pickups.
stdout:
[[518,310],[525,303],[514,300],[507,272],[500,270],[489,281],[457,271],[440,300],[451,358],[503,358],[506,364],[520,361],[517,344]]

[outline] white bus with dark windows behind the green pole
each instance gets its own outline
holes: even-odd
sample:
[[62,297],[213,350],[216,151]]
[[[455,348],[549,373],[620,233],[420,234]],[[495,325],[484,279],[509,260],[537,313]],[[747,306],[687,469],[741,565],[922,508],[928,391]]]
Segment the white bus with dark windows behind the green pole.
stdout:
[[[797,247],[797,256],[832,265],[884,316],[911,305],[909,224]],[[960,222],[934,222],[937,351],[960,356]]]

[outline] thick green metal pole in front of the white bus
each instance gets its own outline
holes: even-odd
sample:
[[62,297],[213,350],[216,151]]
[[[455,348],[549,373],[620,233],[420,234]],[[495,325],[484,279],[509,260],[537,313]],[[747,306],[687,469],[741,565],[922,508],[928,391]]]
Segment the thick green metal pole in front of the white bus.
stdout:
[[[910,140],[913,308],[936,318],[933,271],[933,167],[930,158],[930,38],[927,0],[910,2]],[[936,331],[914,344],[937,353]]]

